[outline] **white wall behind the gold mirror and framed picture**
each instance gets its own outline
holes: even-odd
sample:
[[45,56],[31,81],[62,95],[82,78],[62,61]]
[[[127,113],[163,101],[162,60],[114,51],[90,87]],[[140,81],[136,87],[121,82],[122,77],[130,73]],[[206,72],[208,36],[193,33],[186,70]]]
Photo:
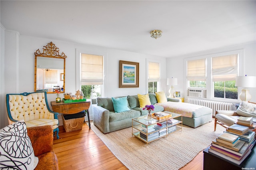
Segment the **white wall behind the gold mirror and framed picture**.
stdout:
[[[75,93],[76,89],[76,49],[84,49],[86,51],[104,51],[106,53],[106,87],[105,87],[105,97],[114,96],[125,96],[125,95],[137,95],[146,94],[146,59],[157,58],[161,67],[161,90],[166,91],[166,58],[144,55],[140,53],[133,53],[128,51],[120,51],[115,49],[107,49],[104,47],[97,47],[92,45],[82,45],[72,42],[63,42],[59,40],[51,40],[46,38],[38,38],[31,36],[17,36],[17,32],[7,33],[10,36],[5,37],[5,50],[10,51],[5,54],[4,59],[6,59],[6,66],[4,69],[5,73],[5,89],[1,91],[1,95],[6,95],[7,93],[24,93],[34,91],[34,52],[40,49],[42,52],[42,47],[47,45],[49,42],[53,42],[56,47],[59,48],[60,53],[62,51],[67,56],[66,58],[66,76],[65,76],[65,92]],[[17,44],[18,39],[18,46]],[[2,36],[1,36],[2,40]],[[1,46],[2,48],[2,46]],[[16,50],[18,53],[16,54]],[[140,63],[139,73],[139,87],[138,88],[118,88],[119,85],[119,60],[133,61]],[[12,62],[14,61],[14,62]],[[55,101],[56,94],[47,94],[48,104],[50,106],[50,101]],[[61,96],[63,98],[63,96]],[[1,100],[5,105],[5,101]],[[51,108],[51,106],[50,106]],[[1,107],[1,118],[4,119],[5,125],[1,123],[1,128],[7,125],[7,118],[4,117],[6,114],[5,109]],[[62,125],[61,116],[59,116],[60,125]],[[90,119],[92,119],[92,113],[90,112]]]

